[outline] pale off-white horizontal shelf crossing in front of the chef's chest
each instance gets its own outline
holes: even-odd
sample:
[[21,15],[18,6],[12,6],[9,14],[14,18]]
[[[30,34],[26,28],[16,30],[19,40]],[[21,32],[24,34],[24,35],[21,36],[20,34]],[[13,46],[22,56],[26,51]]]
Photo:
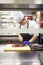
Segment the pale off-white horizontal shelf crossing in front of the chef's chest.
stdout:
[[30,34],[37,34],[37,33],[43,33],[43,28],[29,28],[29,29],[14,29],[14,28],[4,28],[0,29],[0,35],[14,35],[15,33],[30,33]]

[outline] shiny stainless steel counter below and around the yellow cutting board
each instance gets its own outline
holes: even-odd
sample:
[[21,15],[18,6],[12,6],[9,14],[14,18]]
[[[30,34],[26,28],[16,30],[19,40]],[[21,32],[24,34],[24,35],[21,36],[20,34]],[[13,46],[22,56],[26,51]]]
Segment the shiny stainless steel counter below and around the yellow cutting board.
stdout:
[[43,51],[28,53],[4,52],[4,46],[0,45],[0,65],[41,65],[38,55]]

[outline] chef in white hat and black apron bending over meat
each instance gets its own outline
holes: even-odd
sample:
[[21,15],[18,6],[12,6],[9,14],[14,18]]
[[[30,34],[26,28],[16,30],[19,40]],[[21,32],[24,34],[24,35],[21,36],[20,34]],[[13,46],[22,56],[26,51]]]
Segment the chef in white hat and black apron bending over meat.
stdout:
[[[14,19],[16,20],[18,25],[21,25],[22,28],[26,25],[27,22],[29,22],[29,27],[39,28],[38,24],[36,23],[36,21],[34,19],[33,20],[27,20],[27,18],[24,17],[24,15],[23,15],[23,13],[21,11],[14,11],[13,15],[14,15]],[[32,37],[30,37],[30,35],[27,34],[28,36],[27,35],[26,36],[28,37],[28,40],[26,40],[25,35],[22,36],[21,34],[18,34],[19,40],[21,42],[23,42],[23,44],[30,44],[30,43],[34,42],[38,37],[38,34],[34,34]]]

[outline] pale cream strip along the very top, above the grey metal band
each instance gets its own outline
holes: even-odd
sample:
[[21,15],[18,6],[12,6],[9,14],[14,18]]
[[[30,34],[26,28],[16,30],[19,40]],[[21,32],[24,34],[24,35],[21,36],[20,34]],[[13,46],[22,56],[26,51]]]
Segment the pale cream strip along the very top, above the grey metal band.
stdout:
[[43,0],[0,0],[0,3],[43,4]]

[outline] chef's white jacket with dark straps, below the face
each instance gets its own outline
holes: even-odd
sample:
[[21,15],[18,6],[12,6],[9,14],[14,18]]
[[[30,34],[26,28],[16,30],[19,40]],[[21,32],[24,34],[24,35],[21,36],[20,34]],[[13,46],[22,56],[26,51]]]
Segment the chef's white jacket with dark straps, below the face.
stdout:
[[[39,28],[39,25],[36,23],[35,20],[28,20],[28,23],[29,23],[29,25],[28,25],[29,28],[35,28],[35,29]],[[27,29],[27,23],[25,25],[21,26],[21,28]],[[38,36],[38,35],[39,35],[38,33],[34,34],[34,36]]]

